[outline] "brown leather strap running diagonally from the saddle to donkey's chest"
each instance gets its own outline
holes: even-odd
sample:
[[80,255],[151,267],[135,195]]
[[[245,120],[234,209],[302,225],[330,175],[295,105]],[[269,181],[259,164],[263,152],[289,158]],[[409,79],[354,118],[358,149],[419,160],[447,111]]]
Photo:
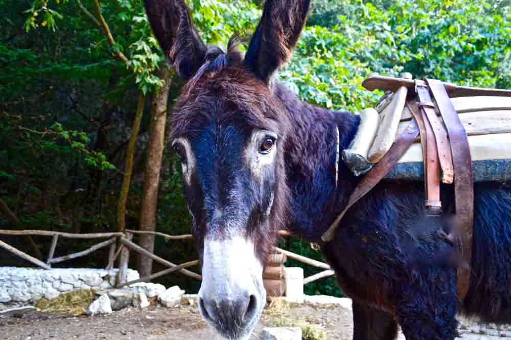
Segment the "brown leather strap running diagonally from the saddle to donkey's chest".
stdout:
[[341,221],[344,214],[362,197],[365,196],[371,189],[373,189],[380,180],[398,163],[399,158],[408,150],[410,145],[413,144],[415,139],[419,137],[419,127],[415,120],[411,120],[408,126],[402,131],[399,137],[396,139],[392,147],[387,153],[381,158],[381,160],[375,164],[375,166],[369,170],[369,172],[362,178],[351,194],[346,207],[341,211],[337,218],[332,222],[326,232],[321,235],[322,243],[330,242],[336,235],[339,228],[339,222]]

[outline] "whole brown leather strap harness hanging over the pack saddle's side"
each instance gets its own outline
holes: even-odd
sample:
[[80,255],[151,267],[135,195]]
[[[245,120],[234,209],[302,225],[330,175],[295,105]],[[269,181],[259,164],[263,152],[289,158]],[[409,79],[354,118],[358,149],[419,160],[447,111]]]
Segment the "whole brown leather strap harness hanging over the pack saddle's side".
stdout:
[[[394,82],[396,81],[403,79],[394,79]],[[446,87],[449,89],[453,85],[433,79],[413,82],[415,90],[409,91],[406,101],[406,107],[413,119],[404,130],[398,132],[392,147],[360,180],[345,208],[321,236],[320,245],[324,246],[333,240],[338,229],[345,226],[340,222],[346,212],[385,177],[420,136],[425,173],[425,206],[428,215],[439,215],[442,212],[440,181],[446,184],[454,183],[456,214],[451,236],[457,240],[462,259],[458,266],[457,292],[458,298],[463,301],[470,287],[474,225],[474,186],[468,138],[446,90]],[[410,88],[409,85],[407,84]],[[394,85],[386,81],[378,86],[380,87],[376,88],[383,86],[383,89],[388,89],[386,87]],[[480,94],[478,90],[474,89],[469,93],[475,96]],[[437,117],[436,110],[442,116],[445,127]]]

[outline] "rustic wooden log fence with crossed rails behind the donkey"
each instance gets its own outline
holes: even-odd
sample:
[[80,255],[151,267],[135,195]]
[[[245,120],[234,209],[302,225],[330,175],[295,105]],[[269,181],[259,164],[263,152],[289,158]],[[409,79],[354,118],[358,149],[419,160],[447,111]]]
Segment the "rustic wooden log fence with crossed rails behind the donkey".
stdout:
[[[133,283],[146,282],[146,281],[158,278],[160,276],[167,275],[170,273],[175,273],[175,272],[186,275],[188,277],[191,277],[191,278],[194,278],[197,280],[202,280],[202,277],[199,274],[186,269],[186,268],[197,265],[199,263],[199,260],[189,261],[189,262],[185,262],[185,263],[181,263],[181,264],[172,263],[172,262],[165,260],[157,255],[154,255],[151,252],[148,252],[141,246],[135,244],[132,241],[133,235],[135,235],[135,234],[151,234],[151,235],[155,235],[155,236],[159,236],[159,237],[164,237],[168,240],[187,240],[187,239],[193,238],[193,236],[190,234],[171,236],[171,235],[167,235],[164,233],[149,232],[149,231],[136,231],[136,230],[129,230],[129,229],[126,230],[124,233],[95,233],[95,234],[73,234],[73,233],[42,231],[42,230],[24,230],[24,231],[0,230],[0,235],[11,235],[11,236],[31,235],[31,236],[52,237],[52,243],[50,245],[50,251],[49,251],[48,259],[46,262],[36,259],[35,257],[32,257],[32,256],[18,250],[17,248],[15,248],[1,240],[0,240],[0,247],[19,256],[22,259],[32,262],[33,264],[37,265],[38,267],[41,267],[43,269],[51,269],[52,264],[54,264],[54,263],[60,263],[60,262],[64,262],[67,260],[76,259],[78,257],[82,257],[82,256],[88,255],[90,253],[93,253],[103,247],[110,246],[109,255],[108,255],[108,263],[107,263],[105,269],[112,269],[114,262],[119,259],[119,262],[118,262],[119,272],[118,272],[117,284],[116,284],[117,287],[119,287],[119,288],[133,284]],[[290,236],[290,234],[285,231],[281,231],[281,232],[279,232],[279,234],[281,236]],[[54,257],[55,249],[57,247],[57,242],[58,242],[59,238],[107,239],[107,240],[102,241],[98,244],[95,244],[81,252],[68,254],[68,255],[64,255],[64,256],[60,256],[60,257]],[[312,260],[307,257],[301,256],[298,254],[294,254],[292,252],[288,252],[288,251],[283,250],[278,247],[275,247],[275,250],[279,253],[285,254],[288,258],[291,258],[291,259],[297,260],[299,262],[302,262],[302,263],[305,263],[308,265],[312,265],[312,266],[315,266],[318,268],[325,269],[318,274],[315,274],[308,278],[305,278],[304,285],[311,283],[313,281],[334,275],[334,271],[331,270],[330,266],[326,263]],[[157,273],[140,278],[138,280],[127,281],[127,269],[128,269],[130,251],[134,251],[134,252],[137,252],[143,256],[150,257],[154,261],[159,262],[169,268],[160,270]]]

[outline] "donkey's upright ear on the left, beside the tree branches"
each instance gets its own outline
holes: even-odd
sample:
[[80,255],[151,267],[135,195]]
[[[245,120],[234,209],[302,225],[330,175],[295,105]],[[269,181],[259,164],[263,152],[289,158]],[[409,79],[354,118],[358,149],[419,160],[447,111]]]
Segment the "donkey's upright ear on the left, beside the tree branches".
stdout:
[[206,47],[184,0],[144,0],[147,16],[165,57],[188,80],[201,66]]

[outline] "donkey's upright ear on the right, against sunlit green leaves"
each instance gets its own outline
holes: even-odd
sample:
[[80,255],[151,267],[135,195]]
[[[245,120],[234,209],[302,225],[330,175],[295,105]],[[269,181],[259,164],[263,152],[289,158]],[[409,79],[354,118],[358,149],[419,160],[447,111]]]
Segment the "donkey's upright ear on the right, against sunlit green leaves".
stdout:
[[245,65],[266,83],[291,58],[310,4],[310,0],[266,1],[245,55]]

